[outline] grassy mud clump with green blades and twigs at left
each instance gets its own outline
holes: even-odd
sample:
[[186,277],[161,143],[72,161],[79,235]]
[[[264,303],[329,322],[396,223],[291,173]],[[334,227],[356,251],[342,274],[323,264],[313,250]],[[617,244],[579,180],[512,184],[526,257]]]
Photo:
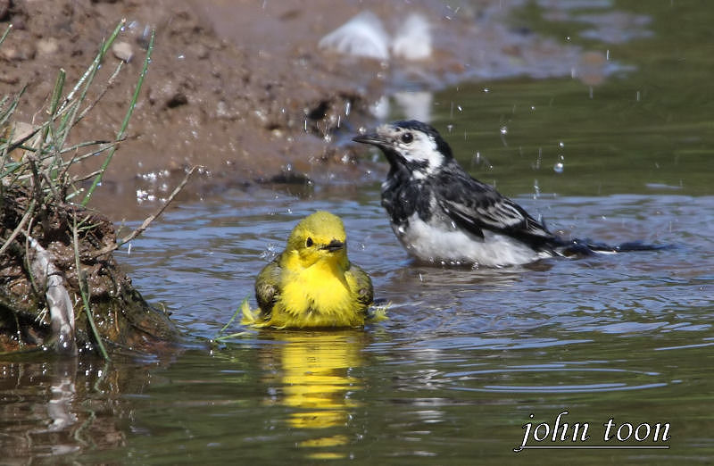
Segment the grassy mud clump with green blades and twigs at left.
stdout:
[[[54,349],[63,354],[147,350],[175,338],[167,315],[145,303],[112,257],[170,203],[129,236],[117,239],[112,222],[86,205],[120,146],[137,103],[154,47],[145,61],[120,129],[111,139],[75,142],[71,131],[111,90],[125,62],[100,82],[98,71],[125,21],[99,47],[73,86],[60,70],[46,108],[36,119],[16,118],[25,87],[0,101],[0,352]],[[12,33],[4,31],[2,41]],[[97,171],[82,161],[104,157]],[[188,175],[192,171],[189,171]],[[188,177],[187,175],[187,177]]]

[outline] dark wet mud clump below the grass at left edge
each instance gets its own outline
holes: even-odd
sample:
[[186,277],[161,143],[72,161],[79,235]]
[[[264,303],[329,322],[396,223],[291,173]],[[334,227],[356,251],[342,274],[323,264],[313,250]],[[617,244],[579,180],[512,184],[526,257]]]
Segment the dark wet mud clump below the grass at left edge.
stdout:
[[98,337],[112,354],[170,349],[178,332],[120,270],[112,256],[117,238],[111,221],[77,205],[40,202],[24,187],[3,187],[3,195],[3,238],[26,212],[33,215],[0,254],[0,354],[43,347],[99,353]]

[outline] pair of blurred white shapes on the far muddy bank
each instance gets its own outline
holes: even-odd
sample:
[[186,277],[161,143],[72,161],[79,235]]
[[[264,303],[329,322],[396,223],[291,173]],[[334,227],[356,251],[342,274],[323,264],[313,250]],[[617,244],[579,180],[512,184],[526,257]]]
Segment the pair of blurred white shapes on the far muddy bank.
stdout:
[[364,11],[320,39],[320,48],[340,54],[389,59],[394,56],[406,60],[423,60],[431,55],[431,28],[428,21],[411,13],[390,38],[382,21],[373,12]]

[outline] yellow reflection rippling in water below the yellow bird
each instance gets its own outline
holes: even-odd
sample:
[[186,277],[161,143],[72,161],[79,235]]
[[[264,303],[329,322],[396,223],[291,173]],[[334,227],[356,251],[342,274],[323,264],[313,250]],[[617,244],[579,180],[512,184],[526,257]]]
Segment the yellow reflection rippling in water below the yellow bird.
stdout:
[[[351,373],[362,365],[366,334],[362,330],[325,332],[274,332],[282,344],[271,345],[263,359],[275,365],[278,396],[269,403],[296,408],[286,422],[297,429],[327,429],[345,426],[351,410],[359,404],[350,395],[361,390],[361,380]],[[330,430],[334,433],[334,430]],[[337,434],[303,440],[302,447],[346,445],[349,437]],[[339,458],[342,454],[320,452],[311,458]]]

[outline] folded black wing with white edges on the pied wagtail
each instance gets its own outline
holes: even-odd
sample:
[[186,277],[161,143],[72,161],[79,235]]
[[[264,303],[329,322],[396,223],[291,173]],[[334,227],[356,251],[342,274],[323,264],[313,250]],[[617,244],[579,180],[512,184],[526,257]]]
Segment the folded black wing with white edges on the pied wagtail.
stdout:
[[449,218],[478,237],[483,237],[483,229],[516,237],[553,237],[519,204],[466,173],[442,173],[435,192],[436,202]]

